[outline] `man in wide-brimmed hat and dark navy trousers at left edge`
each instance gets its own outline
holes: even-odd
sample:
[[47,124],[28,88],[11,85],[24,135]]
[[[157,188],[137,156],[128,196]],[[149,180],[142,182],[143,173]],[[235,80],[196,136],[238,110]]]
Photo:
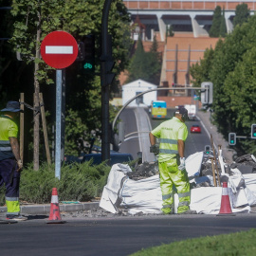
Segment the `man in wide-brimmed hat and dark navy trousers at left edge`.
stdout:
[[17,120],[20,113],[18,101],[8,101],[0,116],[0,187],[6,186],[7,219],[24,221],[20,215],[19,187],[23,163],[20,157]]

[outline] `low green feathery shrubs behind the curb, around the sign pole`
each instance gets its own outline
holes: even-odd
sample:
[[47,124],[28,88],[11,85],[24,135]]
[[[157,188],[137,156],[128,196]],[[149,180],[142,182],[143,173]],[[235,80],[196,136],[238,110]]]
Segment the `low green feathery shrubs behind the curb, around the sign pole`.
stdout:
[[[101,163],[93,166],[91,162],[64,165],[61,180],[55,177],[54,165],[46,163],[39,171],[28,165],[22,172],[20,201],[34,204],[49,204],[52,188],[58,189],[59,201],[87,201],[101,196],[107,182],[110,167]],[[4,188],[1,189],[0,204],[5,204]]]

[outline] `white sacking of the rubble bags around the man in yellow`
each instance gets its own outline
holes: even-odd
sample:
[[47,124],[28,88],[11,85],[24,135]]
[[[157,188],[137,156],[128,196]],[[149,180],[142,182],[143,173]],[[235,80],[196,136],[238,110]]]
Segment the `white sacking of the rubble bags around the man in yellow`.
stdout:
[[[186,169],[189,176],[196,184],[210,180],[212,177],[198,176],[202,163],[202,154],[195,154],[188,157]],[[242,175],[239,170],[232,170],[233,175],[229,176],[229,199],[233,212],[249,212],[250,206],[256,205],[256,174]],[[127,173],[132,172],[128,165],[115,164],[112,166],[108,176],[107,184],[101,195],[100,207],[112,213],[117,213],[119,208],[127,209],[129,213],[160,213],[162,207],[162,194],[160,190],[159,175],[145,179],[132,180]],[[237,188],[245,181],[244,188]],[[243,183],[243,182],[242,182]],[[201,187],[192,189],[191,210],[197,213],[217,214],[220,210],[222,199],[221,187]],[[174,212],[177,211],[178,196],[174,194]]]

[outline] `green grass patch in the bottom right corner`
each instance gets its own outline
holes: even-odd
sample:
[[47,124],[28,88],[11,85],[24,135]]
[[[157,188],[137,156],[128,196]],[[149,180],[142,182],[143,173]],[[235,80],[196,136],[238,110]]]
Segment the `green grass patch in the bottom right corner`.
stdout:
[[130,256],[196,255],[242,256],[256,255],[256,229],[218,236],[207,236],[174,242],[170,245],[141,249]]

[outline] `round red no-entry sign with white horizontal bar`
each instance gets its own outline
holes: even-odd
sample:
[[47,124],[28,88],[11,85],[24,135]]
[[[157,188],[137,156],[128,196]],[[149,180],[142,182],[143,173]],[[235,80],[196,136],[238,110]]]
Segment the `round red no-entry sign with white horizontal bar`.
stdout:
[[42,42],[41,56],[46,64],[58,69],[65,68],[77,59],[77,41],[65,31],[51,32]]

